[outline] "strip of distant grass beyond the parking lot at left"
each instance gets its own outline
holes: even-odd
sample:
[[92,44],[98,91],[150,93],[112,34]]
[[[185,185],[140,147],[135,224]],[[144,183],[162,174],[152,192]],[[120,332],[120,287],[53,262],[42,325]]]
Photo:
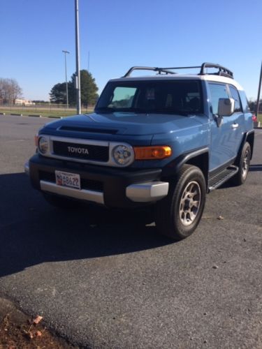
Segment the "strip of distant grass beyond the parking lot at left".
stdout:
[[[92,112],[92,109],[83,108],[82,113],[90,113]],[[75,115],[77,114],[75,109],[59,109],[59,108],[17,108],[17,107],[12,107],[12,108],[0,108],[1,113],[6,113],[6,115],[10,114],[22,114],[24,116],[27,115],[41,115],[41,117],[68,117],[70,115]]]

